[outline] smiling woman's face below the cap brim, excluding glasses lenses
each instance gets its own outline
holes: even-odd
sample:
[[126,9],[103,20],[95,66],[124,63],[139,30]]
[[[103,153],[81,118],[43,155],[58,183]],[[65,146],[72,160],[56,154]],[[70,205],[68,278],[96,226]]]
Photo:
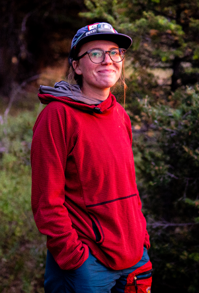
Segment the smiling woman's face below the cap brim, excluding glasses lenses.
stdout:
[[[85,43],[80,47],[78,56],[91,49],[109,51],[113,48],[118,48],[118,45],[114,42],[92,41]],[[73,61],[73,66],[76,73],[82,75],[82,88],[88,92],[89,89],[92,91],[97,89],[110,90],[110,87],[116,84],[120,77],[122,62],[113,62],[106,53],[103,62],[93,63],[88,54],[86,54],[79,61]]]

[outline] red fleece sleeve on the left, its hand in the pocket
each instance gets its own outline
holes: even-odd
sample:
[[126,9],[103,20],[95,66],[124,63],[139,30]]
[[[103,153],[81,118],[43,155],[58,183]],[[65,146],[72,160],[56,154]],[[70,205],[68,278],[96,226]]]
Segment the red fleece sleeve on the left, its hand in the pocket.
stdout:
[[60,268],[74,270],[88,258],[89,250],[78,239],[63,205],[67,158],[66,114],[64,106],[57,104],[47,105],[33,128],[32,210],[38,229],[47,235],[47,248]]

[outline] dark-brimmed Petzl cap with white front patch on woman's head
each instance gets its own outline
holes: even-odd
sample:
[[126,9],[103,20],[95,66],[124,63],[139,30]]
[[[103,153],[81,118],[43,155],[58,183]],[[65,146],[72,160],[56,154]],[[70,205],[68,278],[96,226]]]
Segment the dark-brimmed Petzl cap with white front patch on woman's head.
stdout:
[[111,24],[106,22],[98,22],[90,25],[86,25],[80,28],[73,38],[71,44],[71,51],[68,57],[68,62],[72,66],[75,52],[80,48],[81,45],[86,42],[105,40],[115,42],[119,48],[128,49],[132,44],[132,39],[129,36],[119,34]]

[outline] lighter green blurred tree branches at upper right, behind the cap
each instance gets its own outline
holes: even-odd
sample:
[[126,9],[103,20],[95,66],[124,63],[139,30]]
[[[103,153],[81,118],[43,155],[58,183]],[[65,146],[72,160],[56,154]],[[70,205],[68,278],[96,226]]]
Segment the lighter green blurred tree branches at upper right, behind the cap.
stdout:
[[[132,38],[129,50],[133,63],[141,63],[145,70],[148,67],[173,69],[172,90],[178,88],[177,81],[182,76],[181,84],[191,81],[192,73],[182,63],[189,62],[189,68],[199,68],[198,0],[178,3],[174,0],[86,0],[85,4],[89,12],[81,16],[108,21]],[[195,77],[199,81],[199,76]]]

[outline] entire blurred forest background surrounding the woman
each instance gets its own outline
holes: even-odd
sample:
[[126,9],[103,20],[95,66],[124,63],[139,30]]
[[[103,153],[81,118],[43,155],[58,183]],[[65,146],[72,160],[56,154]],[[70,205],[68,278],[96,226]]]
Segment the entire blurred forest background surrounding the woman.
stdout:
[[44,292],[45,236],[30,204],[37,92],[65,79],[73,36],[98,21],[133,39],[125,109],[152,292],[198,292],[199,0],[1,0],[0,15],[0,292]]

